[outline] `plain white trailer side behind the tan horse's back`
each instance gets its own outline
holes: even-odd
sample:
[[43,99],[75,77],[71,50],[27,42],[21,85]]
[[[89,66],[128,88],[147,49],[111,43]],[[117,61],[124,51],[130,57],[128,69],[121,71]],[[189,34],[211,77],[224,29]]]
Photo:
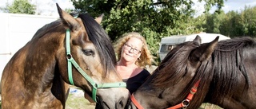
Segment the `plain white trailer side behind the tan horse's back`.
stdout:
[[26,45],[43,25],[57,19],[58,16],[0,13],[0,80],[3,68],[14,53]]

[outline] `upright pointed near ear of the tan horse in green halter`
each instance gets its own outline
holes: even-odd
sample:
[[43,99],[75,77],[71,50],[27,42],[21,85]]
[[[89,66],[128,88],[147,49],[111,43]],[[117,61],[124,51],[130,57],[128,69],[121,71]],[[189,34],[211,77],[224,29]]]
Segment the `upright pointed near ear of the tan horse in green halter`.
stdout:
[[63,25],[66,25],[67,28],[72,29],[72,30],[77,29],[78,28],[78,21],[76,21],[73,16],[66,13],[64,10],[62,10],[58,6],[58,3],[56,3],[56,6],[57,6],[57,9],[58,9],[59,18],[62,19]]

